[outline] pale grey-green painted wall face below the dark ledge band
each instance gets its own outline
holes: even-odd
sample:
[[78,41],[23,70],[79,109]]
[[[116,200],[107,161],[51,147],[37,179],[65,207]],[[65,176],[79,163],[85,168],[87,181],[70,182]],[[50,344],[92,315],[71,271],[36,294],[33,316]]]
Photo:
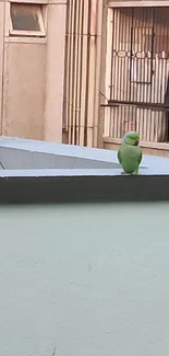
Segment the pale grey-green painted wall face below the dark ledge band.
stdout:
[[169,204],[0,208],[0,355],[168,356]]

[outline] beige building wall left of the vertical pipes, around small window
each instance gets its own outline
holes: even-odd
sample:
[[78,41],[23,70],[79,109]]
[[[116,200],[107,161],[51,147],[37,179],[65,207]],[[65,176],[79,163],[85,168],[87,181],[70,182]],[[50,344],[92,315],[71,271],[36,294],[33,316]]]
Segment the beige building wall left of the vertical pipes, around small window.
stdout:
[[14,2],[36,4],[40,31],[15,31],[0,0],[0,134],[61,141],[67,0]]

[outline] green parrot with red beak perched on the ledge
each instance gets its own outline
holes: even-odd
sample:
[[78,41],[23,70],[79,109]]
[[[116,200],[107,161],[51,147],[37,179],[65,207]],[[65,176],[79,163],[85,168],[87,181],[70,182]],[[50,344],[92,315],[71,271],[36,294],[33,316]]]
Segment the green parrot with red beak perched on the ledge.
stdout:
[[129,131],[124,135],[118,151],[118,160],[128,174],[137,174],[142,161],[142,150],[138,146],[140,135]]

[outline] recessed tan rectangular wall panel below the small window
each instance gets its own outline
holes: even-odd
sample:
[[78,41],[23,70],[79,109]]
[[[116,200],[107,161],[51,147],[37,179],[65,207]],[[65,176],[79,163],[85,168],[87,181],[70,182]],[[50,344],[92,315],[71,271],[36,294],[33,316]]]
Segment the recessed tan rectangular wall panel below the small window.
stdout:
[[43,139],[46,99],[46,45],[8,43],[3,135]]

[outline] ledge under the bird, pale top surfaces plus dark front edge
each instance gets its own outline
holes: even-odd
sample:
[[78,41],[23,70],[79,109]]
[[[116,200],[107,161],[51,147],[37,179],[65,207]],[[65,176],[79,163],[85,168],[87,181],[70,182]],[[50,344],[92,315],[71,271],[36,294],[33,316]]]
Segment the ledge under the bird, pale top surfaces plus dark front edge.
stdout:
[[117,151],[0,137],[0,203],[169,200],[169,159],[123,175]]

